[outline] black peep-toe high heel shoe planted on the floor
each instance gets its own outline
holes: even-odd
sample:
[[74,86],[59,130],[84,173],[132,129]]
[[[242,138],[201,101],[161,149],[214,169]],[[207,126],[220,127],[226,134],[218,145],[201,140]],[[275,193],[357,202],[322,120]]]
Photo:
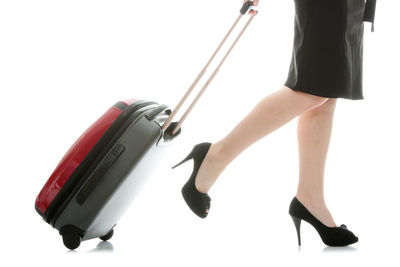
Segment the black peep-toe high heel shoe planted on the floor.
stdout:
[[297,239],[299,246],[301,246],[300,240],[300,224],[301,220],[310,223],[315,230],[317,230],[319,236],[327,246],[347,246],[358,241],[358,237],[347,229],[346,225],[341,224],[338,227],[328,227],[317,218],[315,218],[304,205],[294,197],[289,206],[289,214],[293,219],[296,227]]

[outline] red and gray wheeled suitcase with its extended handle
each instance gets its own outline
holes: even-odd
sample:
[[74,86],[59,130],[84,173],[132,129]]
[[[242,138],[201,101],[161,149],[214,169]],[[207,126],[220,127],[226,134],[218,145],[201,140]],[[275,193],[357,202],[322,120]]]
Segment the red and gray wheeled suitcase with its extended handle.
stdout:
[[243,4],[234,25],[173,112],[168,105],[148,99],[117,102],[67,151],[35,201],[36,211],[59,231],[67,248],[76,249],[84,240],[112,237],[115,225],[162,160],[168,143],[181,133],[183,121],[254,16],[181,120],[172,119],[252,4]]

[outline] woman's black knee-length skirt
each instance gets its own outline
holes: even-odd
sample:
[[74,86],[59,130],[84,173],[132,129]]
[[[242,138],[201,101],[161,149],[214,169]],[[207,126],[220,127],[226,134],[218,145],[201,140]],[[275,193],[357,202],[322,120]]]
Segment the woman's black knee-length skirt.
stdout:
[[292,59],[285,86],[305,93],[364,99],[365,0],[294,0]]

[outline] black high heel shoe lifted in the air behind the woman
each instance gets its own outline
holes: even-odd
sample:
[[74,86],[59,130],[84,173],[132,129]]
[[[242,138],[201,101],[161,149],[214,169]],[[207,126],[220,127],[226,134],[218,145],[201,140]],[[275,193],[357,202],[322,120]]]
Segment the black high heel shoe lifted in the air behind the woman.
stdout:
[[200,169],[201,163],[206,157],[206,154],[210,149],[211,145],[212,143],[208,142],[203,142],[195,145],[192,151],[189,153],[189,155],[186,156],[186,158],[184,158],[181,162],[172,167],[173,169],[189,159],[194,160],[194,168],[192,171],[192,175],[190,176],[189,180],[185,183],[185,185],[182,187],[181,193],[183,199],[185,200],[189,208],[197,216],[203,219],[206,218],[208,215],[207,209],[210,210],[211,198],[207,193],[201,193],[197,190],[195,186],[195,179],[197,172]]

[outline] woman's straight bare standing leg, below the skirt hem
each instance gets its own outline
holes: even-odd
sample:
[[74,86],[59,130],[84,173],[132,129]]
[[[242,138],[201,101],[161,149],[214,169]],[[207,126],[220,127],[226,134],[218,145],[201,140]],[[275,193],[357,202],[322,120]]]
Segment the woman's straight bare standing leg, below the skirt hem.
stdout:
[[323,224],[336,226],[324,201],[324,169],[336,98],[300,115],[297,127],[300,175],[297,199]]

